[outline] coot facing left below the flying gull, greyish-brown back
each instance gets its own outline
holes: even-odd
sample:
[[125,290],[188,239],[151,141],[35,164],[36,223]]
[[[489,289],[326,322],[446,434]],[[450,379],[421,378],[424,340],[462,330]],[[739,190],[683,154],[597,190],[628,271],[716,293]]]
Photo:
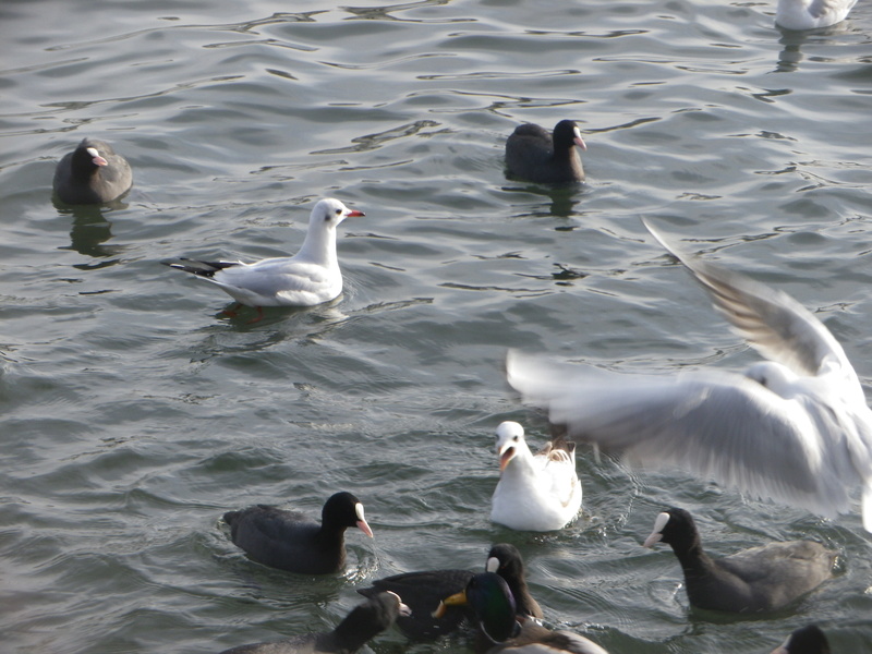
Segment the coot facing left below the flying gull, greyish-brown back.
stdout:
[[671,508],[659,513],[645,547],[673,547],[685,572],[691,606],[751,614],[783,608],[833,576],[836,553],[820,543],[790,541],[743,549],[724,558],[703,552],[691,514]]

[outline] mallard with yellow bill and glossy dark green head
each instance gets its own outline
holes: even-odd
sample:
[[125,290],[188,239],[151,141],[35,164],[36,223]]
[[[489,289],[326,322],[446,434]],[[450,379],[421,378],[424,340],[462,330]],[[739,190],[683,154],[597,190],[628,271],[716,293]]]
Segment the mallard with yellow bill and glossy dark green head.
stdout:
[[552,631],[535,620],[516,620],[514,598],[506,581],[493,572],[474,576],[467,588],[446,597],[436,610],[469,604],[479,622],[479,654],[608,654],[603,647],[570,631]]

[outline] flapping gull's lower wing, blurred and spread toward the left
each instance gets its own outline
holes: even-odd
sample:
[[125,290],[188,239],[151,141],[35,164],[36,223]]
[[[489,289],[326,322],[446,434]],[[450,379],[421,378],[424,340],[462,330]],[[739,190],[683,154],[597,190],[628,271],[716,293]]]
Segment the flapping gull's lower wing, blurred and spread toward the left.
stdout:
[[826,517],[849,508],[858,474],[838,417],[808,398],[724,371],[623,375],[517,351],[506,365],[509,384],[574,440]]

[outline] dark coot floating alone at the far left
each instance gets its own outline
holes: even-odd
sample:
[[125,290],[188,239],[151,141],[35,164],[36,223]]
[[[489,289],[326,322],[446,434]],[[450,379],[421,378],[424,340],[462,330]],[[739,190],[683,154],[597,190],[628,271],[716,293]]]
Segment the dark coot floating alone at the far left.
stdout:
[[111,146],[83,138],[55,169],[55,194],[66,204],[99,204],[121,197],[133,185],[130,164]]

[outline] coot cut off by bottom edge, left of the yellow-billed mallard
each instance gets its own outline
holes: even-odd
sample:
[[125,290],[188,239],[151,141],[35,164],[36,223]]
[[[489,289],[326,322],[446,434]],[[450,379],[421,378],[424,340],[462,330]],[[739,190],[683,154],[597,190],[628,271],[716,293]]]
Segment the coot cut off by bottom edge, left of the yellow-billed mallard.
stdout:
[[399,595],[378,593],[354,607],[332,631],[306,633],[275,643],[240,645],[221,654],[352,654],[403,615],[409,615],[409,607]]

